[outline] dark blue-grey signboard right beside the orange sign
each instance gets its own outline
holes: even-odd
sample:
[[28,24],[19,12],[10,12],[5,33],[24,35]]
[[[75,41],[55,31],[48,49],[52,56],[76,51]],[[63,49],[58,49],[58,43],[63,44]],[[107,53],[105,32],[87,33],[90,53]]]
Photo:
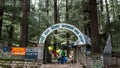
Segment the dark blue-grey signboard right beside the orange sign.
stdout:
[[26,59],[37,59],[38,49],[37,48],[27,48],[26,49]]

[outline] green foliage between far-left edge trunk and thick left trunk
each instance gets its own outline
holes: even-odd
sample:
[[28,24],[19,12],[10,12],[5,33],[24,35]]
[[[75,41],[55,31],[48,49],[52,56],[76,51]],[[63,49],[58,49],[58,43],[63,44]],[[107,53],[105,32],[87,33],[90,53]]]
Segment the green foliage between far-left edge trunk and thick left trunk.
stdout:
[[[3,19],[3,25],[2,25],[2,40],[1,43],[8,44],[8,42],[13,42],[14,44],[19,44],[19,36],[20,36],[20,22],[21,22],[21,7],[19,4],[16,6],[13,6],[12,1],[5,2],[4,5],[1,6],[1,8],[4,8],[4,15],[2,17]],[[15,16],[13,17],[13,13]],[[9,39],[9,27],[13,26],[14,33],[13,33],[13,39]]]

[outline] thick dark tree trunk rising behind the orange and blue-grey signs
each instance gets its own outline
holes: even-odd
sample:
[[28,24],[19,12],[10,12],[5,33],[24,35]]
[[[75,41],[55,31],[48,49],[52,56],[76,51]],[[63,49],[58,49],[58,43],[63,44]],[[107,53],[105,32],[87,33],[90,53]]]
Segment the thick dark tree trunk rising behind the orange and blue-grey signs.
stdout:
[[27,35],[28,35],[28,17],[29,17],[29,0],[23,0],[23,16],[21,22],[21,47],[27,47]]

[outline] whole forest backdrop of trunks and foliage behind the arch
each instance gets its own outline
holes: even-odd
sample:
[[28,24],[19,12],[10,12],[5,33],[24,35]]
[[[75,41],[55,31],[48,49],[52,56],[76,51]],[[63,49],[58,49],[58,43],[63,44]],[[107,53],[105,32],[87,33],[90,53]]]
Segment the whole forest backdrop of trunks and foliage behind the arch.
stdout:
[[[96,48],[100,47],[100,51],[103,51],[110,34],[113,52],[120,53],[120,0],[93,1],[0,0],[0,43],[10,47],[33,47],[49,26],[69,23],[89,36],[93,43],[97,42],[94,44]],[[92,8],[93,4],[96,7]],[[53,44],[54,37],[56,42],[62,43],[77,39],[68,30],[51,33],[48,37],[50,44]]]

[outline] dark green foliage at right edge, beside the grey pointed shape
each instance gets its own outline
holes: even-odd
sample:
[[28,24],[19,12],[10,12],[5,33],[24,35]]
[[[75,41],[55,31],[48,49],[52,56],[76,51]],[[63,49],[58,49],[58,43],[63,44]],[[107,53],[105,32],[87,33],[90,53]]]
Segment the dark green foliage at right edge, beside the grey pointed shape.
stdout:
[[113,52],[120,53],[120,21],[111,23],[111,34],[112,34],[112,46]]

